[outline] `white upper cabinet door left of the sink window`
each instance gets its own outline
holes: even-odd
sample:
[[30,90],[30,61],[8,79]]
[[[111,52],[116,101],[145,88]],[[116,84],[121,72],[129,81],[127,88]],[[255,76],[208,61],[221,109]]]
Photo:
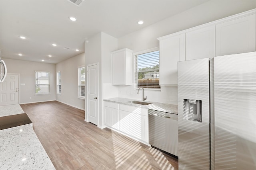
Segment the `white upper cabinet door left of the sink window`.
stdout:
[[125,52],[112,54],[112,84],[125,84]]

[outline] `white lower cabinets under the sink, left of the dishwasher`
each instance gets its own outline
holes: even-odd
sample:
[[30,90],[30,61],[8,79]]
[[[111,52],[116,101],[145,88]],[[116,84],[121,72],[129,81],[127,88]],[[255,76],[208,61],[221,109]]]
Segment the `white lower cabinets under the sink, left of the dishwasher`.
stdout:
[[104,124],[148,143],[148,109],[104,102]]

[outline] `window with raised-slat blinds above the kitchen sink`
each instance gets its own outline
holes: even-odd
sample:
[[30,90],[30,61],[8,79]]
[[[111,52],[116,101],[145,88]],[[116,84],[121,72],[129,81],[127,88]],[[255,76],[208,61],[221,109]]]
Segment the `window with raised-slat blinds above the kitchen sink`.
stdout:
[[159,48],[138,52],[134,58],[135,88],[160,89]]

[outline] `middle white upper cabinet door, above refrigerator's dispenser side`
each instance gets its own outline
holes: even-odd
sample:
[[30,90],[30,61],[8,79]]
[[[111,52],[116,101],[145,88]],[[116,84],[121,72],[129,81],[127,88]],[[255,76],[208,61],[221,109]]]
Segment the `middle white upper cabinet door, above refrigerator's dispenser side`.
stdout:
[[215,56],[215,26],[186,33],[186,60]]

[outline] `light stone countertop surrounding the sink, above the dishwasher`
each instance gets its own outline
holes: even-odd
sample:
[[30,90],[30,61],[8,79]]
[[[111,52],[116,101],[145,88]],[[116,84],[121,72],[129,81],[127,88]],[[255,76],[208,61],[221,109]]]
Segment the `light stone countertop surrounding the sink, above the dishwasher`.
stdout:
[[[129,105],[129,106],[136,106],[136,107],[142,107],[142,108],[146,108],[146,109],[153,109],[153,110],[157,110],[157,111],[164,111],[164,112],[168,112],[168,113],[178,114],[178,105],[150,102],[150,101],[145,101],[145,102],[152,103],[149,105],[128,103],[128,101],[131,101],[131,100],[134,100],[134,99],[128,99],[128,98],[104,99],[104,101],[106,101],[106,102],[114,102],[114,103],[118,103],[118,104],[125,104],[125,105]],[[136,101],[140,101],[140,100],[136,100]]]

